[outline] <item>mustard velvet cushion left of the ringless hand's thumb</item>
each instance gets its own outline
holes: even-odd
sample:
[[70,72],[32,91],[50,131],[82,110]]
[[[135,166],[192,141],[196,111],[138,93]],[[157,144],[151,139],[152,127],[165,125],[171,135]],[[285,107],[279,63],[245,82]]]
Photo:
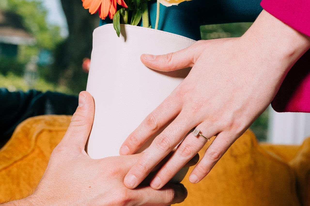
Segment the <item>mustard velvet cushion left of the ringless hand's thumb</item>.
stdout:
[[37,116],[16,128],[0,150],[0,202],[32,193],[70,120],[71,116],[65,115]]

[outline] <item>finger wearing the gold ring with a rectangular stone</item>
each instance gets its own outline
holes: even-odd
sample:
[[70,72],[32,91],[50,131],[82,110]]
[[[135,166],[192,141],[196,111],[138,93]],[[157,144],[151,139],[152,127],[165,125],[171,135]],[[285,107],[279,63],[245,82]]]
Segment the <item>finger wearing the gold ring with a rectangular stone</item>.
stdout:
[[[202,131],[199,134],[211,138],[216,132],[210,130],[210,126],[206,123],[199,124],[196,128],[200,128]],[[209,131],[208,129],[209,128]],[[188,160],[192,159],[208,141],[200,135],[193,135],[189,133],[184,140],[179,144],[174,154],[170,157],[169,161],[162,166],[157,172],[152,181],[150,182],[151,187],[159,189],[164,186],[177,172],[184,167]],[[169,175],[167,175],[169,174]]]

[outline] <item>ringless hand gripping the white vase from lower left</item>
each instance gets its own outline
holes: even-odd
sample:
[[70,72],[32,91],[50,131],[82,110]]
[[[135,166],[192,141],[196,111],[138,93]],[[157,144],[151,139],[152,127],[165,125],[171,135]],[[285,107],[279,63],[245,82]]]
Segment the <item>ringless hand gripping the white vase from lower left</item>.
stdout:
[[91,159],[84,148],[94,111],[91,95],[81,92],[70,126],[52,152],[37,189],[5,205],[169,205],[184,201],[187,191],[182,184],[167,184],[161,190],[124,186],[126,173],[142,154]]

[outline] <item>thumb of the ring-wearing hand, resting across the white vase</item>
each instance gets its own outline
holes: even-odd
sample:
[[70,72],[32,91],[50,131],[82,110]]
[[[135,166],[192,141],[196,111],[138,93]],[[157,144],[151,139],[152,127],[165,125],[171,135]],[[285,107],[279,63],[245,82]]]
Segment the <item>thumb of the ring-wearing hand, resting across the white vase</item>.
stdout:
[[173,71],[193,67],[197,58],[206,47],[206,45],[201,42],[203,41],[197,41],[195,44],[185,49],[169,54],[142,54],[140,60],[145,66],[159,71]]

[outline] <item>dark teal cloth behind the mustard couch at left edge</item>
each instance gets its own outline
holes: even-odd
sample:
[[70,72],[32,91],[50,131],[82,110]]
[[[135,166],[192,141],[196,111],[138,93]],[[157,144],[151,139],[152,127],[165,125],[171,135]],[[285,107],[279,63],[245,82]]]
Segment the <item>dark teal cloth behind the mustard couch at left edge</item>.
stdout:
[[0,88],[0,148],[11,137],[23,120],[43,114],[72,115],[78,106],[78,97],[58,92],[9,92]]

